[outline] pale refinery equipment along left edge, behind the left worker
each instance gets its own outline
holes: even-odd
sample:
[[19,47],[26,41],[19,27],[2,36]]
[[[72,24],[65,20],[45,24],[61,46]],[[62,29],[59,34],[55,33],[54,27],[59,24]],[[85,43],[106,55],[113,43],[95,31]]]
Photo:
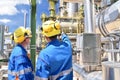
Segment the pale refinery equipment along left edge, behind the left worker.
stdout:
[[6,80],[4,77],[7,77],[7,62],[13,47],[10,35],[8,26],[0,25],[0,80]]

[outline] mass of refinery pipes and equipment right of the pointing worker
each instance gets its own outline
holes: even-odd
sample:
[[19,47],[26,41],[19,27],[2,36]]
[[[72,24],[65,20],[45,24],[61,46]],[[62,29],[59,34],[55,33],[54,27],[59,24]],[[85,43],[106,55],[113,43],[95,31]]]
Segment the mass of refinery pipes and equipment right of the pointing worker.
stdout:
[[48,0],[73,45],[75,80],[120,80],[120,0]]

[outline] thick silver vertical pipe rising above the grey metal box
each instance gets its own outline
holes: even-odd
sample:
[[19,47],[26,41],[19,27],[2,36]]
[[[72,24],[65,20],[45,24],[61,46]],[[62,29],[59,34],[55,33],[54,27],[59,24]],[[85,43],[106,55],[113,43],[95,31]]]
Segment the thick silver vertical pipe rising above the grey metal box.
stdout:
[[85,9],[85,32],[93,33],[95,32],[94,24],[94,0],[85,0],[84,1]]

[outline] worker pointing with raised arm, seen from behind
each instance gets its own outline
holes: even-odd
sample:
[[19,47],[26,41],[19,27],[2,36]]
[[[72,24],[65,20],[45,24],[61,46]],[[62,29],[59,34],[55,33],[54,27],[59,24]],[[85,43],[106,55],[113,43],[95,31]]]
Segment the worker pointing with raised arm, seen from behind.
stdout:
[[73,80],[71,42],[65,34],[62,41],[57,39],[60,24],[46,21],[41,30],[48,43],[39,53],[35,80]]

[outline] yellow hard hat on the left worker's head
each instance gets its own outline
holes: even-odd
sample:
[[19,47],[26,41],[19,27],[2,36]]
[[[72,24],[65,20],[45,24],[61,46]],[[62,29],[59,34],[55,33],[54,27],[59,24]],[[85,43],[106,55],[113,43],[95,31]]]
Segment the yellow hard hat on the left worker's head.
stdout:
[[24,27],[19,27],[13,33],[12,39],[15,41],[15,43],[21,43],[25,40],[26,37],[32,37],[31,31],[25,29]]

